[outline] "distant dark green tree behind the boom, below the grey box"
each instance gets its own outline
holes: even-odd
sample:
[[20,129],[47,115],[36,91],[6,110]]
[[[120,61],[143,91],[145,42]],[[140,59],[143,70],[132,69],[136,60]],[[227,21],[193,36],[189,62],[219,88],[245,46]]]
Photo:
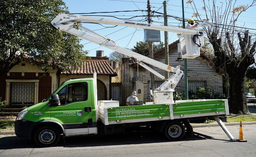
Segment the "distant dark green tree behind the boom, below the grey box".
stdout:
[[[153,45],[153,52],[156,52],[163,48],[163,42],[159,44]],[[133,46],[132,51],[140,53],[142,55],[148,56],[149,55],[149,45],[148,42],[139,41],[136,42],[136,45]]]

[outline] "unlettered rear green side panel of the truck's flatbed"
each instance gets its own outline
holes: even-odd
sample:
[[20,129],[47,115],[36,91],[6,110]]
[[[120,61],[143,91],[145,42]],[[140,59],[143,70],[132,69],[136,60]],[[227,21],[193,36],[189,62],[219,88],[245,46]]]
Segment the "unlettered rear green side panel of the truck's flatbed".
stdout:
[[186,102],[173,106],[174,116],[221,111],[226,111],[225,102],[219,100]]

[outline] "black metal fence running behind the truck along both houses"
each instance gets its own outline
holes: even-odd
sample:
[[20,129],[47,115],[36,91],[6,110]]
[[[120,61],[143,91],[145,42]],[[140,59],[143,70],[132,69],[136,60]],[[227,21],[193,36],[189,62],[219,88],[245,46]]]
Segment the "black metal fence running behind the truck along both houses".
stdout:
[[[157,88],[161,82],[155,83]],[[195,99],[196,94],[204,94],[200,89],[204,87],[208,91],[206,93],[206,99],[227,99],[228,89],[222,86],[205,86],[195,85],[188,86],[189,99]],[[9,86],[0,88],[0,112],[20,112],[24,108],[32,106],[36,103],[40,103],[43,99],[47,99],[52,91],[56,90],[58,85],[35,85],[35,83],[16,83],[13,82]],[[97,96],[98,100],[116,100],[119,101],[120,106],[126,105],[126,99],[135,89],[135,85],[122,85],[122,84],[111,84],[111,85],[98,85]],[[185,87],[176,86],[175,91],[181,97],[185,97]],[[210,93],[210,95],[209,95]],[[209,97],[210,96],[210,97]],[[149,84],[143,85],[143,101],[152,102],[150,96]]]

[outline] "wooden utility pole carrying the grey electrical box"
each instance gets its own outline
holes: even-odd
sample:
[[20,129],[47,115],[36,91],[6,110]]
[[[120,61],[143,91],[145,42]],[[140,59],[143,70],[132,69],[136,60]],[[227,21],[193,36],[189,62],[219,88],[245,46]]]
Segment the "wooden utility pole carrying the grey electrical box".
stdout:
[[[148,24],[151,24],[151,6],[150,6],[150,0],[148,0],[147,3],[147,8],[148,8]],[[153,42],[149,41],[149,58],[153,58]],[[150,65],[150,68],[154,70],[154,67]],[[155,89],[155,78],[154,74],[150,73],[150,87],[152,89]]]

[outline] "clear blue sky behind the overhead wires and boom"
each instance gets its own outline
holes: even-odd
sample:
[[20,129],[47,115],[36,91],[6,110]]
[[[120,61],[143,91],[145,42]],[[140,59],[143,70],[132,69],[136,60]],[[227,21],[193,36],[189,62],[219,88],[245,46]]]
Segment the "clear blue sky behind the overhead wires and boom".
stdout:
[[[63,0],[66,5],[69,8],[69,11],[71,13],[87,13],[87,12],[103,12],[103,11],[122,11],[122,10],[146,10],[147,9],[147,0]],[[237,5],[246,5],[251,0],[238,0]],[[162,6],[162,0],[150,0],[151,2],[151,10],[158,10],[158,12],[163,13],[163,7]],[[185,3],[186,0],[184,0],[184,7],[185,7],[185,18],[192,18],[193,9],[191,8],[190,4]],[[194,0],[196,5],[198,5],[198,8],[202,8],[202,0]],[[221,4],[220,1],[217,4]],[[175,15],[182,17],[182,3],[181,0],[169,0],[168,1],[168,14],[169,15]],[[239,21],[237,22],[238,26],[247,27],[247,28],[254,28],[256,24],[256,17],[255,14],[256,6],[253,6],[249,8],[246,12],[241,14]],[[198,11],[200,13],[200,10]],[[201,11],[202,12],[202,11]],[[101,14],[95,14],[95,15],[114,15],[119,18],[130,18],[132,16],[136,15],[146,15],[146,12],[119,12],[119,13],[101,13]],[[202,12],[202,19],[205,18],[203,15],[205,14]],[[102,16],[103,17],[103,16]],[[113,18],[113,17],[104,17],[104,18]],[[134,20],[144,20],[142,18],[145,17],[136,17]],[[163,25],[163,18],[157,18],[153,17],[152,19],[154,22],[152,24],[155,25]],[[160,22],[160,23],[159,23]],[[141,23],[147,23],[147,22],[141,22]],[[181,26],[182,23],[180,21],[177,21],[173,18],[168,19],[169,26]],[[87,27],[90,30],[97,30],[102,29],[104,27],[97,25],[97,24],[83,24],[83,26]],[[110,27],[112,25],[104,25],[106,27]],[[106,28],[102,30],[96,31],[97,33],[101,35],[108,35],[110,33],[113,33],[117,30],[120,30],[124,28],[123,26],[117,26],[114,28]],[[115,43],[121,47],[127,47],[127,48],[133,48],[133,46],[138,41],[144,40],[144,31],[143,29],[138,29],[136,32],[136,28],[127,27],[125,29],[122,29],[116,33],[113,33],[111,35],[108,35],[107,37],[115,41]],[[135,32],[135,33],[134,33]],[[256,32],[254,30],[254,32]],[[253,37],[255,38],[255,37]],[[169,32],[169,44],[178,40],[178,37],[176,33]],[[161,32],[161,41],[164,42],[164,34]],[[100,45],[94,44],[94,43],[88,43],[86,40],[81,41],[84,45],[84,49],[88,50],[89,56],[96,56],[96,50],[104,50],[104,55],[109,56],[109,54],[113,51],[105,47],[100,47]],[[87,44],[86,44],[87,43]]]

